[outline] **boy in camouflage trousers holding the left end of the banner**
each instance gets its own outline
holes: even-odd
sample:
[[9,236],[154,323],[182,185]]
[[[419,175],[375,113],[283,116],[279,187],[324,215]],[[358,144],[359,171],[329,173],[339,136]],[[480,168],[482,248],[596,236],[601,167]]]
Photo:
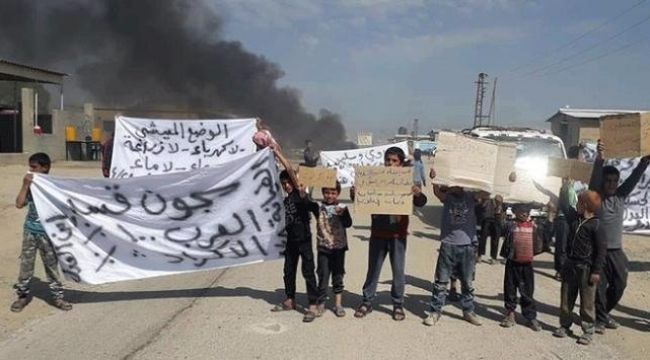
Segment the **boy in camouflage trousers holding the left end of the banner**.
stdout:
[[[36,153],[29,157],[29,171],[31,173],[47,174],[50,172],[50,157],[45,153]],[[27,205],[27,217],[23,227],[23,246],[20,252],[20,274],[18,282],[14,285],[18,299],[11,304],[11,311],[20,312],[32,300],[29,291],[29,283],[34,275],[34,263],[36,251],[40,251],[45,274],[49,282],[50,293],[52,294],[52,305],[61,310],[70,310],[72,305],[63,300],[63,287],[61,285],[58,261],[56,252],[50,242],[45,229],[39,219],[36,206],[32,199],[29,186],[32,183],[33,174],[27,174],[23,178],[23,187],[16,197],[16,207],[22,209]]]

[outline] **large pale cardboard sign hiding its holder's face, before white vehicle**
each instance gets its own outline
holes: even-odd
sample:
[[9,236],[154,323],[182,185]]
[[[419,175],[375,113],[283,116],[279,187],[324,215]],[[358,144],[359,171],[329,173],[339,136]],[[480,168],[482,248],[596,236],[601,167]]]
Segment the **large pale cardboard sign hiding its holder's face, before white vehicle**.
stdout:
[[440,132],[433,163],[434,183],[454,185],[506,195],[513,171],[516,147],[463,134]]

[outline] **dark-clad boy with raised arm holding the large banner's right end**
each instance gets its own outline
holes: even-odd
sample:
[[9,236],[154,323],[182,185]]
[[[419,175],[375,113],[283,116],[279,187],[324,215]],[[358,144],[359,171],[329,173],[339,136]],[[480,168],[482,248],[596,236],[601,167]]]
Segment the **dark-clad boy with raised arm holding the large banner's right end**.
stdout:
[[299,185],[296,173],[291,163],[282,155],[277,146],[271,145],[276,158],[284,166],[280,172],[280,183],[287,194],[284,198],[286,218],[287,245],[284,250],[284,291],[287,298],[271,311],[286,311],[296,309],[296,272],[298,259],[302,259],[302,276],[305,278],[309,310],[303,317],[303,322],[312,322],[318,312],[318,286],[314,275],[314,253],[311,244],[310,213],[318,214],[318,204],[313,202],[305,193],[305,188]]

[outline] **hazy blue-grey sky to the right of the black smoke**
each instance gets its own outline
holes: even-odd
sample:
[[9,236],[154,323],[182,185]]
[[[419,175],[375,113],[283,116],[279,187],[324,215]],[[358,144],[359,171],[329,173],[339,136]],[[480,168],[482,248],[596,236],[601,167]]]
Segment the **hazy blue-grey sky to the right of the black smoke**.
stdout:
[[226,38],[351,134],[470,126],[479,72],[498,77],[499,125],[545,127],[565,105],[650,108],[650,1],[209,1]]

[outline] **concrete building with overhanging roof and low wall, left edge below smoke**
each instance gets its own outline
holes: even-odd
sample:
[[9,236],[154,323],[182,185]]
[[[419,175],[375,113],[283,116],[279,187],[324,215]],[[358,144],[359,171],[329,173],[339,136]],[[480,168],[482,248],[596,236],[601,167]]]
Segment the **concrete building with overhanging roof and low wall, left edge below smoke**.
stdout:
[[[87,145],[82,146],[79,143],[68,147],[66,140],[84,141],[91,139],[94,134],[92,140],[103,142],[113,132],[117,115],[156,119],[237,117],[215,111],[178,110],[173,107],[109,108],[91,103],[86,103],[83,107],[66,105],[64,109],[63,79],[66,76],[68,75],[61,72],[0,59],[0,81],[14,84],[11,104],[0,103],[0,165],[23,164],[31,154],[36,152],[47,153],[53,161],[64,160],[67,158],[66,155],[71,155],[71,160],[77,160],[76,157],[82,152],[87,153],[90,150],[87,150]],[[40,85],[58,86],[58,108],[43,111],[42,104],[39,106],[39,90],[37,87],[25,86],[26,83],[38,84],[39,89],[42,89]],[[45,95],[41,93],[41,98]],[[38,131],[35,129],[37,126]],[[72,129],[70,134],[74,133],[74,139],[66,139],[66,129]],[[93,149],[95,154],[91,158],[97,159],[96,148]],[[77,156],[70,154],[71,152]],[[86,154],[85,157],[89,156]]]

